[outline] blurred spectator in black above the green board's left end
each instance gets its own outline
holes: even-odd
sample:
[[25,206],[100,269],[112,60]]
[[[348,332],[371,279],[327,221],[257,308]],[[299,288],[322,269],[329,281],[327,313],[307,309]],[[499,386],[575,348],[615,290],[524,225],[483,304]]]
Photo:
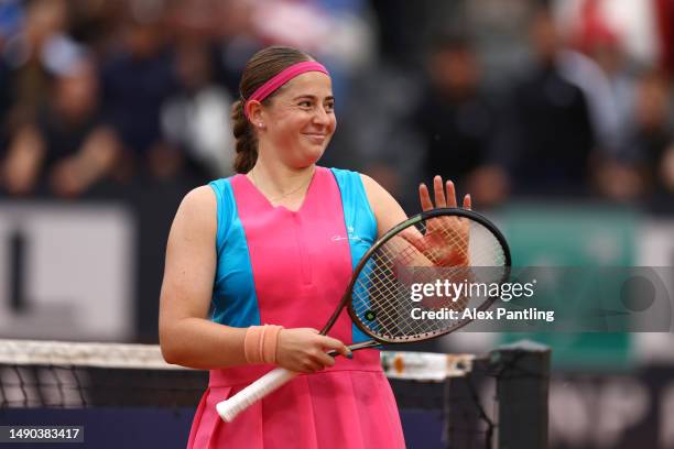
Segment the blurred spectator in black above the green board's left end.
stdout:
[[546,12],[534,18],[531,39],[536,66],[513,91],[500,156],[517,194],[586,194],[595,147],[587,98],[561,70],[562,42]]

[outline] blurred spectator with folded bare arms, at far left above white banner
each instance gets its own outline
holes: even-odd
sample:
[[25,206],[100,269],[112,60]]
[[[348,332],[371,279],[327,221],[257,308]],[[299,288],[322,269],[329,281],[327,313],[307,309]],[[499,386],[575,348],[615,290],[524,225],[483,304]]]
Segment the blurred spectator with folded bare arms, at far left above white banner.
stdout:
[[56,77],[50,102],[34,122],[20,127],[2,163],[13,195],[48,188],[76,197],[113,167],[118,143],[101,120],[97,75],[88,61]]

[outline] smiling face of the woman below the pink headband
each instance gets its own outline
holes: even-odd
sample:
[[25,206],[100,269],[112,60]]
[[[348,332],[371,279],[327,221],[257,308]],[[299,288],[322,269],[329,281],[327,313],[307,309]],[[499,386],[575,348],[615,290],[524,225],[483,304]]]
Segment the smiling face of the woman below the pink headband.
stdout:
[[251,120],[264,123],[258,129],[260,150],[274,152],[293,168],[315,164],[335,133],[334,106],[327,75],[307,72],[293,78]]

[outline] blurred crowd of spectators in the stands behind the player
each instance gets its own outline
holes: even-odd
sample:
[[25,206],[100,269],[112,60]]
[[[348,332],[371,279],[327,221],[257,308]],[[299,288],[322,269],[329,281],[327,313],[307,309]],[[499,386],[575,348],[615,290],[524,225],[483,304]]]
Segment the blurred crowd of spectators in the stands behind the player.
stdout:
[[287,44],[333,75],[324,164],[371,174],[405,206],[442,174],[482,207],[674,210],[674,7],[632,3],[0,0],[0,193],[230,175],[239,75]]

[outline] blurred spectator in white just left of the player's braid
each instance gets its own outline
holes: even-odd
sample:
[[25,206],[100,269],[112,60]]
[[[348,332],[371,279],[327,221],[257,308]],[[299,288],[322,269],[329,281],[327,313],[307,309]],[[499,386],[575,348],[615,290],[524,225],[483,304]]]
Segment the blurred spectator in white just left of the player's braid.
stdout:
[[166,140],[180,147],[204,177],[232,173],[233,139],[229,116],[231,97],[213,81],[207,45],[180,43],[175,55],[180,91],[162,108]]

